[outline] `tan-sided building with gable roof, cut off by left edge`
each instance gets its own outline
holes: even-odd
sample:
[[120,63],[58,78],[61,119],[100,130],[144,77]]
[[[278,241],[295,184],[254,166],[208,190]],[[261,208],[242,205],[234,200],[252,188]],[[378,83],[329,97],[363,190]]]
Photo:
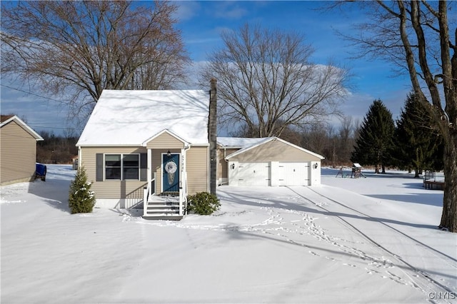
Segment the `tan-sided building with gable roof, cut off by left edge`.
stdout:
[[33,181],[36,142],[43,138],[17,116],[0,119],[0,185]]

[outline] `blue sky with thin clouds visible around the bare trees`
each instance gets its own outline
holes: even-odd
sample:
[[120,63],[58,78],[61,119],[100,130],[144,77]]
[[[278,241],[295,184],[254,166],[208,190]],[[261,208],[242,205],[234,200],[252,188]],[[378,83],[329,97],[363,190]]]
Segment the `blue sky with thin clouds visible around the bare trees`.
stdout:
[[[408,78],[393,77],[388,63],[349,59],[353,56],[351,51],[356,50],[335,31],[348,33],[354,22],[363,20],[363,14],[353,4],[331,12],[316,10],[325,1],[176,1],[176,4],[179,5],[177,27],[196,63],[205,61],[207,54],[221,46],[221,31],[236,31],[245,23],[258,24],[303,34],[306,44],[315,49],[312,59],[316,64],[326,64],[331,59],[351,69],[351,82],[355,88],[341,106],[347,116],[361,120],[373,100],[379,98],[395,119],[410,91]],[[30,90],[18,81],[11,82],[2,77],[1,84],[2,114],[18,113],[38,132],[62,133],[68,127],[68,113],[63,103],[46,98],[44,93],[26,93]]]

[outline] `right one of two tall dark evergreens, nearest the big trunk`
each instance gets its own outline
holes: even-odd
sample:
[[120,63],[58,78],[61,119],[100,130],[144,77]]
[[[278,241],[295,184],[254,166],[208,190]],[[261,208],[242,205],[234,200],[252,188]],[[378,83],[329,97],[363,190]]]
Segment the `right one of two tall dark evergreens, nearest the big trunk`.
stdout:
[[428,108],[410,93],[395,132],[396,160],[400,168],[413,169],[416,178],[423,170],[443,168],[443,140]]

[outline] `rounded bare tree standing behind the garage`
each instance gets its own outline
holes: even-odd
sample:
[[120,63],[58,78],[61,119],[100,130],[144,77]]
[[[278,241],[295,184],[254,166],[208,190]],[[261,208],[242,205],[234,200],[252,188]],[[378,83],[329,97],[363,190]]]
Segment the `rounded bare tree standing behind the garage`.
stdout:
[[200,75],[202,85],[218,79],[221,123],[245,125],[253,137],[281,136],[338,112],[348,71],[312,64],[303,36],[246,24],[222,40]]

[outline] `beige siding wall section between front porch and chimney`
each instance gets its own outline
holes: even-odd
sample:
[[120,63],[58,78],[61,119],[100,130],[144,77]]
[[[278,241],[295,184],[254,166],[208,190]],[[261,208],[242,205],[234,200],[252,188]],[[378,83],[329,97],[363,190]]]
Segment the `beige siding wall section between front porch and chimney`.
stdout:
[[189,195],[209,192],[209,147],[191,147],[186,156]]

